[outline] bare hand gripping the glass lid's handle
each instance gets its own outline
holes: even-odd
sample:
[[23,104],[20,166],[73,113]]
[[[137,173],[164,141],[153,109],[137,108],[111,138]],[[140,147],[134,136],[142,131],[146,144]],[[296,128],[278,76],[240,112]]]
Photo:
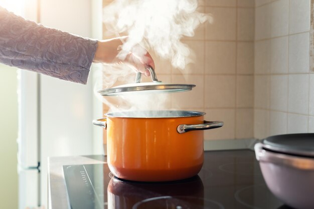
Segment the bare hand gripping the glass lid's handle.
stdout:
[[122,50],[123,40],[127,37],[98,41],[93,62],[107,65],[127,64],[132,69],[149,76],[150,73],[145,66],[155,68],[154,62],[149,53],[140,45],[135,45],[130,51]]

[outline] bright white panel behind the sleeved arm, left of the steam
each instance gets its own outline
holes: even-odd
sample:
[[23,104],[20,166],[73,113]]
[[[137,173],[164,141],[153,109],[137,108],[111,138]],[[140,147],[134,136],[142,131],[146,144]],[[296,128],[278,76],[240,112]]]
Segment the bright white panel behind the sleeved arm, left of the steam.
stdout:
[[[91,37],[91,1],[41,1],[40,22]],[[41,76],[41,202],[46,208],[47,157],[93,154],[92,95],[91,74],[87,85]]]

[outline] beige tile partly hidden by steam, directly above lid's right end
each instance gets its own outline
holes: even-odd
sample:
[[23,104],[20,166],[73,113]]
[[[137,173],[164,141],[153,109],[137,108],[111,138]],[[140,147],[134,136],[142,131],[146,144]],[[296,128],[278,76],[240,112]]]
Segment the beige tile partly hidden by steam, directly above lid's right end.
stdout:
[[173,74],[204,74],[204,41],[184,41],[190,47],[191,63],[185,69],[173,69]]

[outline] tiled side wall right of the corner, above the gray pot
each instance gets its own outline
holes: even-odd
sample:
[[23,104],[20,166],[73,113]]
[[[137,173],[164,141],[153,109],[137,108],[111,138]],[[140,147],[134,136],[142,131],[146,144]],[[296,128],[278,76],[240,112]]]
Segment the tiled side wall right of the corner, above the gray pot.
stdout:
[[310,0],[256,0],[254,137],[314,131]]

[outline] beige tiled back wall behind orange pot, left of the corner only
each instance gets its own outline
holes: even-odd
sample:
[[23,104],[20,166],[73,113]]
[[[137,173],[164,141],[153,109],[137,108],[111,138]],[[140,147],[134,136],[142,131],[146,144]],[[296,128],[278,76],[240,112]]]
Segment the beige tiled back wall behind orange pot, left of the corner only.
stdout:
[[183,39],[195,60],[184,71],[152,54],[160,80],[196,84],[173,94],[170,108],[204,111],[206,120],[225,122],[205,131],[205,140],[253,137],[254,7],[254,0],[201,1],[199,10],[212,14],[214,22]]

